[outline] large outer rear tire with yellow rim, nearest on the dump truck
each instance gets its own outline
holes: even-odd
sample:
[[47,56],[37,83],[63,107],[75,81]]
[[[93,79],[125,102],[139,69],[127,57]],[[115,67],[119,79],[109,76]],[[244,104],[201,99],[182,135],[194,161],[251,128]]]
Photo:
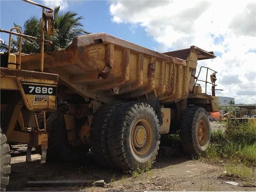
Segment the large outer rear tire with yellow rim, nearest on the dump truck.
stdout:
[[153,108],[146,103],[126,103],[111,120],[108,149],[116,167],[145,169],[155,161],[159,139],[159,120]]

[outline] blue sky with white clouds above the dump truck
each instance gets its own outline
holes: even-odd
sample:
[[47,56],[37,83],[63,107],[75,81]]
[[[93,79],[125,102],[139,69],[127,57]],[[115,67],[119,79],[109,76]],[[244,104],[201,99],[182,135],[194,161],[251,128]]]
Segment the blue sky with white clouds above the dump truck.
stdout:
[[[255,0],[41,0],[82,16],[84,29],[167,52],[195,45],[215,59],[198,61],[217,71],[217,96],[236,104],[256,104]],[[0,0],[0,28],[23,25],[42,9],[21,0]],[[8,35],[0,34],[8,41]],[[200,76],[201,77],[201,76]],[[201,77],[205,78],[205,77]],[[204,87],[203,87],[204,89]],[[211,94],[208,85],[208,94]]]

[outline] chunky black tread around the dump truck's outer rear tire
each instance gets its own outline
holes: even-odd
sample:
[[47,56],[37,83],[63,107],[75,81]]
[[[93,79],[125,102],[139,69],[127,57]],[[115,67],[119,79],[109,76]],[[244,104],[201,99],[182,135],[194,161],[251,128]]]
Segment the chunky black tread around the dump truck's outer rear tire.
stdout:
[[[151,106],[145,103],[138,102],[130,102],[125,103],[119,107],[116,111],[116,118],[111,120],[109,130],[108,130],[108,149],[112,158],[114,165],[118,168],[124,170],[135,170],[138,166],[138,162],[132,157],[129,146],[129,138],[127,138],[127,134],[129,134],[129,126],[130,121],[133,116],[136,115],[138,110],[147,110],[150,115],[152,115],[155,120],[157,126],[157,132],[159,135],[159,120],[155,111]],[[152,152],[151,162],[155,161],[156,155],[158,154],[159,149],[159,136],[156,141],[156,147]],[[140,165],[141,168],[144,168],[145,165]]]

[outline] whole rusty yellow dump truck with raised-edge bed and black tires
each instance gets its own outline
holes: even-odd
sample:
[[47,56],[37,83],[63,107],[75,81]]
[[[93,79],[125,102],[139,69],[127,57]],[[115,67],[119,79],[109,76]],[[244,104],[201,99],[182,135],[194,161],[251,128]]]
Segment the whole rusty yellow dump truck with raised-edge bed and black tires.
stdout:
[[[184,152],[202,154],[208,112],[218,111],[217,72],[200,68],[211,79],[202,80],[196,67],[215,57],[196,46],[158,53],[104,33],[44,53],[44,71],[59,77],[57,111],[47,114],[47,158],[75,160],[91,149],[103,166],[143,169],[155,161],[160,135],[178,130]],[[40,54],[21,58],[24,70],[39,70]],[[211,84],[212,95],[200,83]]]

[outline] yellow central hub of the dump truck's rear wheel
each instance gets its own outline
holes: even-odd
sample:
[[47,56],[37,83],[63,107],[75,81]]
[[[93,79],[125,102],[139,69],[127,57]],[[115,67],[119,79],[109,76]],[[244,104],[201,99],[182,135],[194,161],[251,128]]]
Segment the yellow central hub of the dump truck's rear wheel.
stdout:
[[144,147],[146,141],[147,141],[147,132],[144,126],[137,125],[135,126],[134,130],[134,144],[137,148]]

